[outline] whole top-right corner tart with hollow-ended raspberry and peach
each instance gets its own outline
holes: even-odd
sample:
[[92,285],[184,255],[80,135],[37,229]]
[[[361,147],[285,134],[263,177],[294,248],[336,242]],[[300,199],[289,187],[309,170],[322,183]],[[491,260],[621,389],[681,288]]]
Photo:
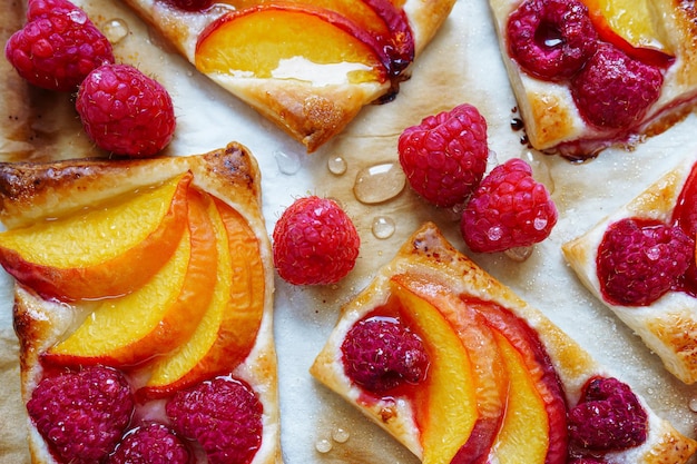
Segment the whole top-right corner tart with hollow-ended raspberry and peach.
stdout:
[[572,159],[667,130],[697,99],[694,3],[490,0],[530,145]]

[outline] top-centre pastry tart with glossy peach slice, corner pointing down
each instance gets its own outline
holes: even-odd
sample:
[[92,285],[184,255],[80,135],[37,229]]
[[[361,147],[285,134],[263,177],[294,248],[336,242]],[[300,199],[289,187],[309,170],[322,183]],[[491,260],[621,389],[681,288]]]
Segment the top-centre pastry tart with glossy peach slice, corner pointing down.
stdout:
[[316,150],[399,82],[454,0],[125,0],[196,69]]

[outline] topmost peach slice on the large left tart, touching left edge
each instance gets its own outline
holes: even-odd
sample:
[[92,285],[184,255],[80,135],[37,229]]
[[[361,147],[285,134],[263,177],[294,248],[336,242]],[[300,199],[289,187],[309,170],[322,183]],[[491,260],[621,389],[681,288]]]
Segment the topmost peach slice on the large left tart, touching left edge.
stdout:
[[126,295],[167,263],[186,228],[187,174],[71,216],[0,234],[0,264],[45,298]]

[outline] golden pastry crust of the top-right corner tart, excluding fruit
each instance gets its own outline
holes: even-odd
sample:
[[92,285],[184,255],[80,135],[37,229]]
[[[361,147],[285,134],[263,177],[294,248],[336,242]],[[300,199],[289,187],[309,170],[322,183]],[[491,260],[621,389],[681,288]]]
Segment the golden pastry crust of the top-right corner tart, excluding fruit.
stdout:
[[664,73],[658,100],[629,132],[601,130],[588,125],[576,108],[569,87],[528,75],[511,59],[505,27],[508,17],[521,0],[490,0],[511,86],[518,100],[530,145],[542,151],[566,156],[590,156],[612,145],[630,146],[642,136],[658,135],[687,116],[697,98],[697,36],[693,2],[650,2],[652,18],[665,36],[675,60]]

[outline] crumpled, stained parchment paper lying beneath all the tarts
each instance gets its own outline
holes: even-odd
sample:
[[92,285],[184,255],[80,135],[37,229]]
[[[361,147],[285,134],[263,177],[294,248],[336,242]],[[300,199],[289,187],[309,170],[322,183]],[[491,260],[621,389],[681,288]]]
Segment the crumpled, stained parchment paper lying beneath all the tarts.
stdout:
[[[418,462],[359,412],[315,383],[307,369],[328,336],[340,306],[366,285],[375,269],[386,263],[424,220],[435,221],[460,249],[546,313],[644,395],[661,416],[670,419],[680,432],[695,436],[697,414],[689,409],[689,402],[697,398],[697,389],[683,385],[664,371],[658,358],[580,285],[560,251],[562,243],[582,234],[680,162],[683,156],[697,150],[694,115],[631,152],[606,150],[597,159],[581,165],[528,149],[520,141],[522,132],[511,128],[511,119],[518,116],[516,101],[500,59],[487,1],[469,0],[455,4],[442,30],[415,62],[412,79],[402,83],[395,101],[365,108],[344,134],[307,156],[298,144],[199,76],[117,0],[78,3],[102,29],[115,19],[122,20],[129,33],[115,46],[117,59],[138,66],[170,91],[178,127],[167,154],[204,152],[237,140],[259,161],[269,233],[283,209],[294,198],[307,194],[341,201],[359,228],[361,256],[356,268],[341,284],[306,288],[276,279],[275,332],[286,463]],[[3,11],[21,8],[11,0],[3,0]],[[7,28],[2,33],[8,34]],[[2,39],[4,42],[6,37]],[[2,68],[2,111],[8,113],[1,115],[0,156],[3,159],[69,158],[84,156],[91,149],[77,122],[69,96],[27,90],[12,77],[11,70],[6,72]],[[409,188],[379,205],[363,205],[354,197],[353,185],[359,170],[396,161],[396,140],[406,126],[461,102],[477,106],[488,120],[490,167],[511,157],[522,157],[533,166],[536,177],[552,191],[560,220],[551,237],[537,246],[524,263],[503,255],[469,253],[459,234],[458,216],[429,206]],[[21,154],[16,144],[23,147]],[[337,156],[347,162],[341,176],[327,169],[327,161]],[[371,233],[371,224],[379,216],[395,221],[392,237],[379,239]],[[17,340],[11,327],[11,283],[7,276],[2,277],[0,463],[23,464],[29,461],[14,357]]]

